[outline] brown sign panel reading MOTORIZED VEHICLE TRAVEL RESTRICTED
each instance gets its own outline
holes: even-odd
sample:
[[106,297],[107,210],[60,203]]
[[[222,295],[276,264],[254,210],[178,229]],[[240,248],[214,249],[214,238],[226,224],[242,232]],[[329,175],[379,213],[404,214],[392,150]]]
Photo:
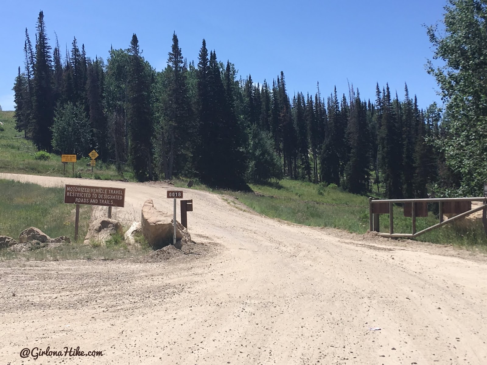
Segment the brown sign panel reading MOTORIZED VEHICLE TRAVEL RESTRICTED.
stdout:
[[66,185],[64,187],[64,202],[123,207],[125,189],[106,186]]

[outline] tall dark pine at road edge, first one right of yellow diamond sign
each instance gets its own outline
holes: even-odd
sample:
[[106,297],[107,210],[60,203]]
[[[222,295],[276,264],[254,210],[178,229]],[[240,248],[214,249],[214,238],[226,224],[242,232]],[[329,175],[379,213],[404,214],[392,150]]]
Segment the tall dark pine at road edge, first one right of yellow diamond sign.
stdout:
[[151,74],[133,34],[130,47],[127,119],[130,120],[129,159],[138,181],[152,180],[153,121],[150,106]]

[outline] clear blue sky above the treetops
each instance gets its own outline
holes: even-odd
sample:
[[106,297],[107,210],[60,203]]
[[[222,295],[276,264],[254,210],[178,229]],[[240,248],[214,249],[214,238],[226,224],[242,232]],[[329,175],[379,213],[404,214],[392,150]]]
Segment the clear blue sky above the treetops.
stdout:
[[337,86],[348,95],[347,79],[364,98],[375,99],[375,83],[389,83],[399,97],[404,82],[421,108],[440,103],[426,73],[431,44],[422,24],[442,19],[446,0],[342,1],[13,1],[2,4],[0,105],[13,110],[14,79],[23,65],[24,29],[35,40],[39,10],[61,54],[75,36],[87,54],[104,59],[110,46],[128,48],[136,33],[143,55],[165,67],[173,31],[183,55],[197,62],[202,39],[219,60],[261,82],[283,71],[288,91],[322,95]]

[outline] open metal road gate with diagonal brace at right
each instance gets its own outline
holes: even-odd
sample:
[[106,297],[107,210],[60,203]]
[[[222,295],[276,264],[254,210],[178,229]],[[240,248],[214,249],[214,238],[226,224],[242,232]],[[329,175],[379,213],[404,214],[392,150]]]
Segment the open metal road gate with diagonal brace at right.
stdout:
[[[483,204],[471,209],[472,201],[482,201]],[[416,217],[428,216],[428,203],[438,203],[439,223],[422,231],[416,232]],[[405,203],[404,215],[412,219],[412,233],[394,233],[394,203]],[[410,203],[410,204],[408,204]],[[487,198],[429,198],[429,199],[374,199],[369,198],[369,228],[370,232],[379,232],[379,215],[389,214],[389,233],[378,233],[382,237],[418,237],[435,228],[453,222],[468,215],[483,210],[482,222],[487,234]],[[456,214],[449,219],[443,219],[443,214]]]

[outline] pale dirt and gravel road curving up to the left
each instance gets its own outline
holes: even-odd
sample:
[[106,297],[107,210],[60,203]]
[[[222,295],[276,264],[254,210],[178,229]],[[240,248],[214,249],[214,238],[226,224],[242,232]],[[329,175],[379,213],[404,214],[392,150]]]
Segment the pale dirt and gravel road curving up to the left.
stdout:
[[[0,178],[125,187],[114,212],[128,219],[147,198],[172,209],[160,185]],[[189,231],[214,242],[211,255],[0,263],[0,364],[487,364],[485,259],[286,224],[184,190]],[[48,346],[103,356],[20,358]]]

